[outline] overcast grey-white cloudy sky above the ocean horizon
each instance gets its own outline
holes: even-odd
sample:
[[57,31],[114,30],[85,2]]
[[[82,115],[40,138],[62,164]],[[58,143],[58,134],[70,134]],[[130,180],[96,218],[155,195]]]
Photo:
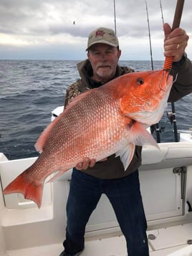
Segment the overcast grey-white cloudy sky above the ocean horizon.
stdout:
[[[153,60],[163,60],[159,0],[147,0]],[[172,25],[176,0],[161,0],[164,22]],[[145,0],[115,0],[120,60],[150,60]],[[181,27],[190,39],[192,1],[186,0]],[[0,59],[84,60],[87,37],[97,27],[115,29],[114,0],[0,0]],[[75,24],[73,24],[75,22]]]

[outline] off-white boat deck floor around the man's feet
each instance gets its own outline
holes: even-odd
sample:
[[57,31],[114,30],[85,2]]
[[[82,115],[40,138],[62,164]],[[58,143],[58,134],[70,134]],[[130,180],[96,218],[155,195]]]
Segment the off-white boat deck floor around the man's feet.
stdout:
[[[192,224],[183,224],[176,227],[167,227],[148,231],[153,234],[155,240],[149,241],[150,256],[191,256],[192,246],[187,241],[192,238]],[[85,242],[85,250],[82,256],[126,256],[125,238],[122,236],[97,238]],[[187,248],[186,248],[187,247]],[[183,249],[182,249],[183,248]],[[182,252],[188,249],[188,252]],[[46,245],[22,250],[7,252],[9,256],[59,256],[62,252],[62,244]],[[180,250],[180,252],[177,252]],[[190,252],[189,252],[190,251]]]

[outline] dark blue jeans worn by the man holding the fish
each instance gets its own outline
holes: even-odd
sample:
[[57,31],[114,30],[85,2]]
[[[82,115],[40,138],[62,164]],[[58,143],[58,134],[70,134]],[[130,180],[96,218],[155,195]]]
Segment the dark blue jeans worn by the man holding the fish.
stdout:
[[121,179],[98,179],[73,170],[67,201],[64,252],[75,254],[83,250],[85,226],[102,194],[106,194],[115,211],[127,242],[128,256],[148,256],[147,223],[138,171]]

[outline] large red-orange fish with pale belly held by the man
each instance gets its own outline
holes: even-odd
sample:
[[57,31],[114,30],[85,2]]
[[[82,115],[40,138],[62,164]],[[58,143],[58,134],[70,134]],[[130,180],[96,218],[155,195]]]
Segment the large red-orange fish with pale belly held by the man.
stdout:
[[37,160],[11,181],[4,194],[21,193],[41,207],[44,182],[52,182],[85,158],[115,153],[125,170],[135,145],[158,144],[147,128],[167,106],[173,76],[168,70],[133,72],[78,95],[39,136]]

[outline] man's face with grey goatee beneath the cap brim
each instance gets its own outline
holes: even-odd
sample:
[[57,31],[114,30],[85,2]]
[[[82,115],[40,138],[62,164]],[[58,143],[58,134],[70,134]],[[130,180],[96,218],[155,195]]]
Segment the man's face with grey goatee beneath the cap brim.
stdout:
[[108,44],[94,44],[87,57],[93,70],[92,78],[97,82],[107,82],[115,76],[121,51]]

